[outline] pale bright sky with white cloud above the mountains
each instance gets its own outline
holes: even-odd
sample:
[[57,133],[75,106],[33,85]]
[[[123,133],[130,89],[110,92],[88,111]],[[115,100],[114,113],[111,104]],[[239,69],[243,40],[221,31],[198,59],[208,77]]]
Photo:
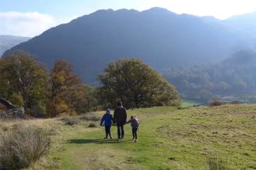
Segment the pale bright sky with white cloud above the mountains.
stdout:
[[256,11],[255,0],[0,0],[0,34],[32,37],[98,9],[141,11],[155,6],[218,19]]

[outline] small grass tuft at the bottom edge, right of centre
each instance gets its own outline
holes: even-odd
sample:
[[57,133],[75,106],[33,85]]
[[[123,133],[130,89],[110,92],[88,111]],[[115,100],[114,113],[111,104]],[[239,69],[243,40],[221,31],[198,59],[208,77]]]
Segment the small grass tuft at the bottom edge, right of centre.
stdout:
[[207,165],[209,170],[235,170],[227,161],[224,161],[220,157],[217,157],[216,154],[212,153],[207,155]]

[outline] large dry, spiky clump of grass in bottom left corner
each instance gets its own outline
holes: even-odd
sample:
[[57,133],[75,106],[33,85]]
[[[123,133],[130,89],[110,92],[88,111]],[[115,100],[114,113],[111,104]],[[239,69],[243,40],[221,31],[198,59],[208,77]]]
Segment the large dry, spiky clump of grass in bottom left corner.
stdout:
[[1,136],[0,169],[28,168],[50,148],[50,138],[40,128],[19,128]]

